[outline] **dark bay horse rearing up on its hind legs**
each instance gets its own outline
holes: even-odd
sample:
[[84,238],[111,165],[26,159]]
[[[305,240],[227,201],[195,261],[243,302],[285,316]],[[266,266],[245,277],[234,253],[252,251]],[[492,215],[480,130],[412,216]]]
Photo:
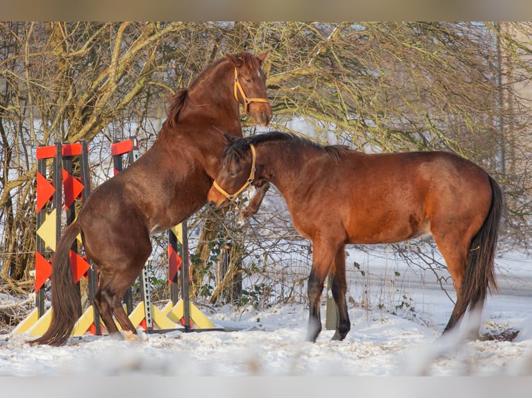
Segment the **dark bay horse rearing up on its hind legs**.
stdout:
[[90,194],[53,255],[52,318],[49,329],[29,343],[64,345],[80,313],[69,250],[81,233],[96,264],[94,297],[109,334],[138,338],[122,308],[122,297],[151,254],[150,236],[181,223],[206,204],[224,152],[224,134],[242,137],[240,104],[256,123],[267,126],[272,108],[260,68],[267,52],[226,54],[172,97],[156,141],[135,163]]

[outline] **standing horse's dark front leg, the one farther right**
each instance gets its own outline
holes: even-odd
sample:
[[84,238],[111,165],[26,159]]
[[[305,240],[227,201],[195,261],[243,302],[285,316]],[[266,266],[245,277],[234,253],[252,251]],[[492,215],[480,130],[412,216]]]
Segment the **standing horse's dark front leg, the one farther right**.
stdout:
[[331,290],[336,304],[336,331],[331,340],[344,340],[351,329],[349,313],[347,313],[347,282],[345,279],[345,246],[342,245],[336,252],[333,263],[333,281]]

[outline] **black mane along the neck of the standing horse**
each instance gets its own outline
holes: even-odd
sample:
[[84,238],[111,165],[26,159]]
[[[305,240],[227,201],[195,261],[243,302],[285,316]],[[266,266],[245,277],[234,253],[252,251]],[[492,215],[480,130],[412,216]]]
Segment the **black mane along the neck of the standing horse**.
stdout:
[[237,156],[239,150],[249,149],[249,144],[256,146],[257,144],[269,141],[284,141],[286,144],[295,144],[297,146],[304,146],[306,148],[322,151],[329,155],[335,164],[338,164],[342,155],[350,150],[348,146],[344,145],[322,145],[301,135],[289,132],[270,131],[233,141],[232,144],[226,147],[224,152],[224,163],[231,162],[235,156]]

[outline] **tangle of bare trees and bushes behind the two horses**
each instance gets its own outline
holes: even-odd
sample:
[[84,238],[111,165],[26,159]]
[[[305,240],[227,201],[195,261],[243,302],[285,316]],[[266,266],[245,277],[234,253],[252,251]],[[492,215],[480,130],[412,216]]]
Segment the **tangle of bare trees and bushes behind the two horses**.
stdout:
[[[167,96],[225,52],[244,50],[269,50],[270,128],[367,152],[444,149],[472,159],[504,186],[506,247],[529,248],[531,33],[526,23],[0,23],[1,277],[16,288],[33,268],[37,146],[87,140],[100,155],[96,186],[112,141],[135,135],[151,146]],[[262,131],[244,115],[242,123],[247,135]],[[235,275],[264,292],[267,279],[284,275],[272,261],[290,252],[289,268],[308,263],[308,242],[279,196],[239,227],[244,205],[190,220],[194,294],[213,293],[227,241],[242,264]],[[283,295],[298,291],[290,283],[279,282]]]

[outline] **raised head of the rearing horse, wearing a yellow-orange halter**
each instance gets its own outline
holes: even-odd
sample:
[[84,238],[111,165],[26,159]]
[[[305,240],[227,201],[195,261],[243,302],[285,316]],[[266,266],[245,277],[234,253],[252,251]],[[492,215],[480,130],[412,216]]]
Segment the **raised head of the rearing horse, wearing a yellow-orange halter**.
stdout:
[[244,105],[244,112],[251,114],[255,123],[262,126],[267,126],[273,116],[266,92],[266,75],[260,69],[267,54],[268,51],[258,56],[249,53],[226,54],[235,67],[235,100]]

